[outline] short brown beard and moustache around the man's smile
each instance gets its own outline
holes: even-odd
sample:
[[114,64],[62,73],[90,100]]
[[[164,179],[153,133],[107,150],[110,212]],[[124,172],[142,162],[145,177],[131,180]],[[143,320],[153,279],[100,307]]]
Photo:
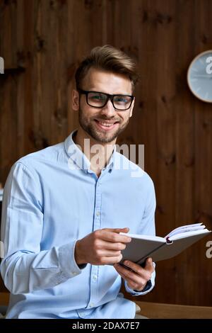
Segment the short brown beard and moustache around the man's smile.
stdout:
[[115,121],[120,122],[120,119],[117,119],[117,118],[108,119],[108,118],[105,118],[104,116],[100,117],[98,115],[96,115],[94,117],[86,118],[86,116],[83,114],[83,111],[81,110],[81,108],[79,108],[78,122],[81,125],[81,128],[83,128],[83,130],[85,132],[87,132],[88,135],[90,135],[90,137],[92,137],[97,142],[101,142],[101,143],[109,143],[109,142],[114,141],[118,137],[118,135],[124,131],[124,129],[126,128],[126,126],[129,123],[129,118],[127,118],[124,123],[121,123],[121,124],[119,123],[117,129],[111,130],[111,133],[110,133],[110,131],[104,132],[104,130],[98,129],[95,119],[114,120],[114,122]]

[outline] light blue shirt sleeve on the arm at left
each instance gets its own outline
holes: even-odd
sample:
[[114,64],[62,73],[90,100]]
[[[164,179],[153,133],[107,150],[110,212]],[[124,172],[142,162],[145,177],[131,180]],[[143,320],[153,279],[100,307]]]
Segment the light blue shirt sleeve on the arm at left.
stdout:
[[1,215],[1,276],[13,294],[52,288],[81,273],[74,259],[76,240],[41,251],[42,225],[39,176],[16,162],[4,187]]

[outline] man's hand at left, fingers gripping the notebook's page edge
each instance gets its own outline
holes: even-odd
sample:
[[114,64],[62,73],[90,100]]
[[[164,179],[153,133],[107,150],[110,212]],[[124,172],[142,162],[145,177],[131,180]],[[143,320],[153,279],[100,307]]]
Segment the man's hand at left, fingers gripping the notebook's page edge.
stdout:
[[131,242],[127,235],[119,232],[129,232],[129,228],[95,230],[88,236],[78,240],[75,246],[76,264],[110,265],[122,260],[121,251],[126,243]]

